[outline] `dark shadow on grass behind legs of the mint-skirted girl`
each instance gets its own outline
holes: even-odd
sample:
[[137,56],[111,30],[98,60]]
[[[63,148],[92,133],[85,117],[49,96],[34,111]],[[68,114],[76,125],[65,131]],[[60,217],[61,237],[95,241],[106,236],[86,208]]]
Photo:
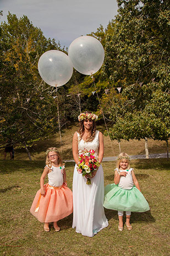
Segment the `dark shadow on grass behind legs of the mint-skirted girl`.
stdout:
[[[113,218],[118,220],[118,212],[114,210],[105,209],[106,217],[109,220]],[[124,212],[124,221],[125,221],[125,212]],[[151,215],[151,211],[146,212],[131,212],[130,222],[155,222],[155,218]]]

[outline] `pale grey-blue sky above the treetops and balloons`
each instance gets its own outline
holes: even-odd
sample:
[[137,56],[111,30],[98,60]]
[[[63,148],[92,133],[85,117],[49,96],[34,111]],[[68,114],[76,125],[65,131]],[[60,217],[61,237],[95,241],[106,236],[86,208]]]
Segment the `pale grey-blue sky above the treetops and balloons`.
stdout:
[[0,21],[7,22],[8,11],[17,18],[26,15],[46,38],[69,47],[79,36],[96,32],[100,24],[106,28],[117,9],[116,0],[0,0]]

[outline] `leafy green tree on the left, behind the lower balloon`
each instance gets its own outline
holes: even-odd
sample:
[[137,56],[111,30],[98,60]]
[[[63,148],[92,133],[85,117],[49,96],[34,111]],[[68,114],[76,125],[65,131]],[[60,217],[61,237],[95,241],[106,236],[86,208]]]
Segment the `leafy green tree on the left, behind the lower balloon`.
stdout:
[[28,151],[32,142],[58,130],[57,105],[52,98],[55,88],[42,81],[37,62],[43,52],[61,48],[47,40],[25,15],[18,19],[9,13],[7,18],[1,24],[0,39],[1,140],[12,138],[14,143],[24,143]]

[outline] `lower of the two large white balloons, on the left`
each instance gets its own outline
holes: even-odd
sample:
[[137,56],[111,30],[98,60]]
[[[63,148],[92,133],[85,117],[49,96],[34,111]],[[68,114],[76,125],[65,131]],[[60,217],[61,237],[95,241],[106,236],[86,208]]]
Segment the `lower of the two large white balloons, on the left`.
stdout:
[[43,81],[50,86],[63,86],[73,74],[73,65],[62,51],[50,50],[41,55],[38,63]]

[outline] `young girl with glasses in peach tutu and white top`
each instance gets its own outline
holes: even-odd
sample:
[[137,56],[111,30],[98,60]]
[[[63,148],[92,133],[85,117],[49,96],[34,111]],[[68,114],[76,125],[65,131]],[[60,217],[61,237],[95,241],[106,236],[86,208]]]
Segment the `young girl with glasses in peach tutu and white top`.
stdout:
[[[44,185],[46,175],[48,175],[48,183]],[[57,221],[72,214],[73,198],[72,190],[67,187],[61,155],[55,147],[47,150],[46,166],[41,175],[40,187],[30,212],[37,220],[45,223],[45,231],[50,231],[49,222],[53,222],[54,230],[59,231]]]

